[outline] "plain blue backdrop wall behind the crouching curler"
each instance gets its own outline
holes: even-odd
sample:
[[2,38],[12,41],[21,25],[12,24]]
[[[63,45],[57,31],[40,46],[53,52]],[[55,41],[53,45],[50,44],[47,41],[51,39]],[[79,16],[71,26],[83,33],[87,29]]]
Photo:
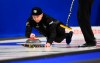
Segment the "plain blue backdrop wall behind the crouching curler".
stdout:
[[[72,0],[0,0],[0,38],[25,37],[25,25],[33,7],[66,24]],[[69,26],[77,27],[78,0],[75,0]],[[91,25],[100,26],[100,0],[94,0]],[[40,35],[33,30],[36,35]]]

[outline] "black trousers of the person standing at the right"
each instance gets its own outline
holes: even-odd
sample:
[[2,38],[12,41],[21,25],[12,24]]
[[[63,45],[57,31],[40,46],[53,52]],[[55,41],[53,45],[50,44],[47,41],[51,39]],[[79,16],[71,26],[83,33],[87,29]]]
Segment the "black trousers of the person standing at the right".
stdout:
[[78,23],[87,44],[94,44],[95,37],[91,29],[90,16],[93,0],[78,0]]

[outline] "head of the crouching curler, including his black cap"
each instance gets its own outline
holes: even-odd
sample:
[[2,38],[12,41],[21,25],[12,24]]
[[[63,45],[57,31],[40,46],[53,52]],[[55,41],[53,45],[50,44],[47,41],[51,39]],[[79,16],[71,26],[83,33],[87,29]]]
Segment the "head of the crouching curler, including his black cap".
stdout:
[[43,12],[41,8],[34,7],[32,8],[32,18],[36,23],[39,23],[43,17]]

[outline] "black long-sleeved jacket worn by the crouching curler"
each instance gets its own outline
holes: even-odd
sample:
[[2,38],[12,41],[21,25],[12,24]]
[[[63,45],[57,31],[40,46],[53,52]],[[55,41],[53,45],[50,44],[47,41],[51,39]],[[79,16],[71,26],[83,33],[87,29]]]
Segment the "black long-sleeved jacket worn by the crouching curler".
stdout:
[[32,32],[32,27],[34,27],[47,37],[47,42],[52,43],[57,37],[57,34],[63,36],[65,33],[64,28],[59,27],[60,24],[62,23],[46,14],[43,14],[42,20],[39,23],[36,23],[32,17],[29,17],[26,23],[25,36],[29,38]]

